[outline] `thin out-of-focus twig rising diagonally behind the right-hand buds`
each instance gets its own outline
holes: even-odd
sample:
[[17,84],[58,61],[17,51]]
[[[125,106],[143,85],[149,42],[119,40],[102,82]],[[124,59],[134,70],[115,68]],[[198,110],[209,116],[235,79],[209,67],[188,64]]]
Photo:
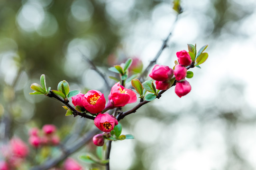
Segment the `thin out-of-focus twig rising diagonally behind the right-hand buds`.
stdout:
[[171,27],[171,31],[168,34],[168,36],[165,38],[161,48],[159,49],[159,51],[157,52],[155,58],[153,60],[150,61],[150,63],[148,64],[148,66],[146,67],[146,69],[144,70],[144,72],[138,77],[138,79],[140,81],[142,81],[142,79],[148,74],[149,69],[156,63],[157,59],[160,57],[160,55],[162,54],[162,52],[164,51],[164,49],[167,47],[167,42],[169,41],[171,35],[173,34],[176,22],[178,20],[179,14],[176,15],[175,21],[173,26]]

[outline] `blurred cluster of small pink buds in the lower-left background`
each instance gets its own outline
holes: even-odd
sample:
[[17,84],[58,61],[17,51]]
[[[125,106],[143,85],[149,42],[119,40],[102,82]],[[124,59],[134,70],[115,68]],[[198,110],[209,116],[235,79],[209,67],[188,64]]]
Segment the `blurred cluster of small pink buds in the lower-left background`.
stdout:
[[54,125],[44,125],[42,131],[37,127],[33,127],[29,131],[28,142],[35,148],[42,145],[57,145],[60,143],[60,138],[55,132],[56,127]]

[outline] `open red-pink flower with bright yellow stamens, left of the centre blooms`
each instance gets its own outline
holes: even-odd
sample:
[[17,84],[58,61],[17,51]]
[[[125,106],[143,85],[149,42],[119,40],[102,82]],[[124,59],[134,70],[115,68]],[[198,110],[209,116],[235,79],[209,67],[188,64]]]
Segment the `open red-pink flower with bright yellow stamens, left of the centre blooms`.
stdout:
[[90,113],[99,113],[105,108],[106,100],[104,94],[97,90],[89,90],[84,95],[83,107]]

